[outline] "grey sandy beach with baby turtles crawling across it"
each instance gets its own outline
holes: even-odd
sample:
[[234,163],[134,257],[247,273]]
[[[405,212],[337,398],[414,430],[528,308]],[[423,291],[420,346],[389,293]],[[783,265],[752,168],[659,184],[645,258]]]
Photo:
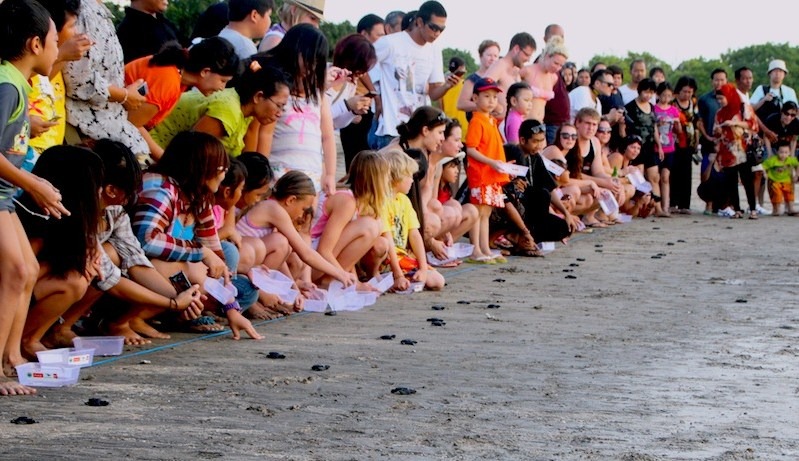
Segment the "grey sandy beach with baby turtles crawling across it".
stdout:
[[263,341],[128,347],[0,399],[0,458],[795,460],[797,223],[637,220]]

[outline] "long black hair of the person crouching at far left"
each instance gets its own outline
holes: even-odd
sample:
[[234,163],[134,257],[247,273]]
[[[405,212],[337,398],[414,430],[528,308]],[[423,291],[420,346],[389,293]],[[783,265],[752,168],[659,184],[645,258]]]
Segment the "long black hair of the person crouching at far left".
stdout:
[[[83,274],[97,248],[103,163],[89,149],[53,146],[39,157],[33,174],[50,181],[61,192],[61,203],[72,213],[45,221],[20,211],[19,218],[28,236],[43,242],[37,259],[47,263],[56,277],[64,277],[70,271]],[[39,209],[27,192],[20,197],[20,203],[30,210]]]

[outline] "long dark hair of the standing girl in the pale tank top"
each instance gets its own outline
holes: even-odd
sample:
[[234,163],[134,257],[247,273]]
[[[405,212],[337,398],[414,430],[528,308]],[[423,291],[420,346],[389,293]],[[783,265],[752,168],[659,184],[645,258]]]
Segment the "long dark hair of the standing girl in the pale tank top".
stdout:
[[[327,38],[319,29],[311,24],[297,24],[286,32],[276,47],[254,57],[265,57],[272,61],[271,65],[288,74],[294,96],[302,88],[307,101],[319,104],[319,98],[325,92],[329,49]],[[300,68],[301,64],[304,69]]]

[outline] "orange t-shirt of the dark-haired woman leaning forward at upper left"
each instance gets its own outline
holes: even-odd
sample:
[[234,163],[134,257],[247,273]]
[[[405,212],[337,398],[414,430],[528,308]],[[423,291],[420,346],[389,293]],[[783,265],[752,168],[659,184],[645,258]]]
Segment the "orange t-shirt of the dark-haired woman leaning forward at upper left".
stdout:
[[144,125],[147,131],[172,112],[180,95],[186,90],[180,83],[180,70],[177,67],[150,67],[150,58],[152,56],[145,56],[125,65],[125,85],[143,79],[147,82],[147,102],[158,108],[158,113]]

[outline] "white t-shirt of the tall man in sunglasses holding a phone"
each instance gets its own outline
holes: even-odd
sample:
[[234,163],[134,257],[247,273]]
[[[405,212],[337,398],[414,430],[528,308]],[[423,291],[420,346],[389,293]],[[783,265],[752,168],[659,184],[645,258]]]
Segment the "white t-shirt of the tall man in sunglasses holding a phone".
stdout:
[[444,58],[438,47],[420,46],[407,32],[381,37],[374,46],[377,65],[369,75],[380,81],[383,102],[377,134],[398,136],[397,125],[407,122],[417,108],[430,105],[428,85],[444,83]]

